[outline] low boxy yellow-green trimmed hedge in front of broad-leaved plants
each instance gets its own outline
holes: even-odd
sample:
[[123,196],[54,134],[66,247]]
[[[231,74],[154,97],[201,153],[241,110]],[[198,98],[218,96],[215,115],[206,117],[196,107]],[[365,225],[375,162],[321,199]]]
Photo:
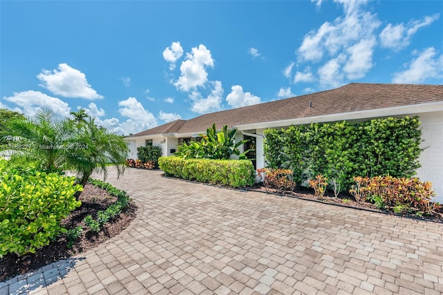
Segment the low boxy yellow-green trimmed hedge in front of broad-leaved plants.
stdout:
[[179,157],[162,157],[159,158],[159,166],[168,176],[228,187],[247,187],[255,181],[255,171],[250,160],[183,160]]

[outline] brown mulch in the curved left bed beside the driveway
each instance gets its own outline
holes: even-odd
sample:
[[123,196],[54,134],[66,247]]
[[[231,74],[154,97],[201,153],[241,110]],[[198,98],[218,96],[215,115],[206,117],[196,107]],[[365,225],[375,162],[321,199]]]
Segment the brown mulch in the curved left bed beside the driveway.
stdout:
[[82,206],[62,221],[66,229],[73,229],[78,225],[83,227],[82,235],[75,240],[73,247],[69,249],[68,241],[61,236],[35,254],[26,254],[21,257],[16,254],[7,254],[0,258],[0,282],[97,247],[105,240],[120,234],[136,218],[136,204],[129,202],[129,206],[119,216],[109,220],[98,233],[93,233],[84,227],[83,218],[89,214],[95,218],[97,211],[107,209],[110,204],[116,202],[117,198],[109,195],[104,189],[87,184],[80,195],[80,200]]

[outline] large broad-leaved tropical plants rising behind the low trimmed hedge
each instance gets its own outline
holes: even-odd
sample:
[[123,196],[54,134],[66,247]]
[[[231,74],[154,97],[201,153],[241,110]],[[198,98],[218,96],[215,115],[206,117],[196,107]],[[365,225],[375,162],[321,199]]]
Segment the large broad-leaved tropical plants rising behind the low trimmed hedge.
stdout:
[[214,159],[214,160],[229,160],[232,155],[237,155],[240,160],[246,159],[244,151],[240,153],[239,146],[248,142],[248,140],[240,140],[235,142],[235,135],[237,129],[228,131],[228,126],[224,125],[223,129],[217,133],[215,124],[206,129],[206,134],[200,134],[201,140],[199,142],[190,142],[186,144],[183,142],[177,146],[177,153],[175,155],[183,159]]

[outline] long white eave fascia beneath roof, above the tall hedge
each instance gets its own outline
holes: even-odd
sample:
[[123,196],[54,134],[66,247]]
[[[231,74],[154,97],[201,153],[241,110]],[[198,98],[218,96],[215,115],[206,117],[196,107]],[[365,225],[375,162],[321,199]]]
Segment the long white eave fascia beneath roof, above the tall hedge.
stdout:
[[266,129],[266,128],[275,128],[282,126],[310,124],[310,123],[336,122],[343,120],[359,120],[371,117],[386,117],[386,116],[395,116],[395,115],[431,113],[435,111],[443,111],[443,101],[428,102],[424,104],[413,104],[408,106],[395,106],[391,108],[376,108],[373,110],[356,111],[350,113],[336,113],[336,114],[320,115],[314,117],[302,117],[296,119],[278,120],[271,122],[240,124],[234,127],[239,130]]

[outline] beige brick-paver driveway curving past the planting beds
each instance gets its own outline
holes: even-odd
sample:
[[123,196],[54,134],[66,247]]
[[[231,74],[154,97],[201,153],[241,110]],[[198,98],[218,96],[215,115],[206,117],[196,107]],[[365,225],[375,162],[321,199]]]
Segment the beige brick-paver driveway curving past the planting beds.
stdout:
[[138,217],[0,294],[441,294],[443,225],[130,170]]

